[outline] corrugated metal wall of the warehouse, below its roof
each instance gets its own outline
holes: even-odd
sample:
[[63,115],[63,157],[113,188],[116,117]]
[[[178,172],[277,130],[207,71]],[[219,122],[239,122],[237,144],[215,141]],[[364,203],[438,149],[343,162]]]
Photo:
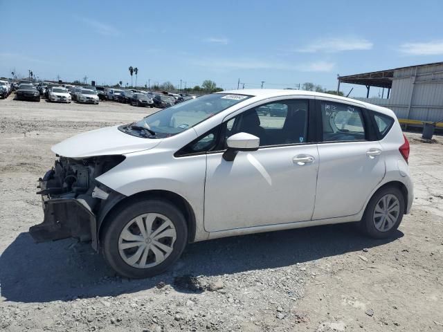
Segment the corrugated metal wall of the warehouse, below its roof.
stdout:
[[394,71],[389,99],[357,99],[388,107],[400,119],[442,120],[443,64],[398,69]]

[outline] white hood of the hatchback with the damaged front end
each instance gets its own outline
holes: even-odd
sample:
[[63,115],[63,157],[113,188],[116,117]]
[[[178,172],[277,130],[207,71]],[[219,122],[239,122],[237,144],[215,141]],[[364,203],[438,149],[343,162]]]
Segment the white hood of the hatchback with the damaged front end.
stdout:
[[80,159],[148,150],[160,142],[159,139],[123,133],[118,126],[114,126],[80,133],[54,145],[51,150],[59,156]]

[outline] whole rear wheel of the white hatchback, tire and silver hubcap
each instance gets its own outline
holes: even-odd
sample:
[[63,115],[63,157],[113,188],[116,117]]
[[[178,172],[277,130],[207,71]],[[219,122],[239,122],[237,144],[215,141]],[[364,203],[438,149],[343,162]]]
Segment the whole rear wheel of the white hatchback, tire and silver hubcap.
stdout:
[[375,239],[392,237],[403,219],[404,205],[404,196],[396,187],[379,190],[366,207],[361,229]]

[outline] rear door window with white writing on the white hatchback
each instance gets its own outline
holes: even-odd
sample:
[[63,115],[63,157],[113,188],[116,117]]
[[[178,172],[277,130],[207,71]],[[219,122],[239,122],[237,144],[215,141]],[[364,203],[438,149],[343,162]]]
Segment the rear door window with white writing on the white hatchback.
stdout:
[[359,107],[321,102],[323,141],[365,140],[363,114]]

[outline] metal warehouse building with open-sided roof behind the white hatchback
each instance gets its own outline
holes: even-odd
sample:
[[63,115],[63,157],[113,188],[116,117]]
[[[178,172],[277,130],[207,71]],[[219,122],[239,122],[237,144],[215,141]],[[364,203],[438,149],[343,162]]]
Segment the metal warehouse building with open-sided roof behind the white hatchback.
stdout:
[[[337,91],[341,83],[366,86],[366,98],[355,99],[392,109],[402,124],[443,120],[443,62],[338,76]],[[371,86],[384,88],[381,98],[369,98]]]

